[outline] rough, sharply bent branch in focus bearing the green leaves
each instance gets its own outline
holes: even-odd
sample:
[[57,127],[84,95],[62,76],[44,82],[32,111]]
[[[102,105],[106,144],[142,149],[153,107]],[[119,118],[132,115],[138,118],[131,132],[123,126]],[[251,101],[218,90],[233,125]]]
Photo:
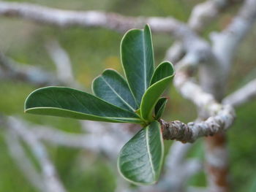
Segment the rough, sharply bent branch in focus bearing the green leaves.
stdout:
[[225,131],[235,118],[235,112],[230,106],[222,106],[210,93],[206,93],[189,78],[189,73],[200,61],[200,56],[195,53],[187,53],[176,66],[174,85],[182,96],[191,100],[205,117],[211,116],[200,123],[181,123],[176,120],[166,123],[160,120],[164,139],[176,139],[181,142],[195,142],[199,137],[213,136]]

